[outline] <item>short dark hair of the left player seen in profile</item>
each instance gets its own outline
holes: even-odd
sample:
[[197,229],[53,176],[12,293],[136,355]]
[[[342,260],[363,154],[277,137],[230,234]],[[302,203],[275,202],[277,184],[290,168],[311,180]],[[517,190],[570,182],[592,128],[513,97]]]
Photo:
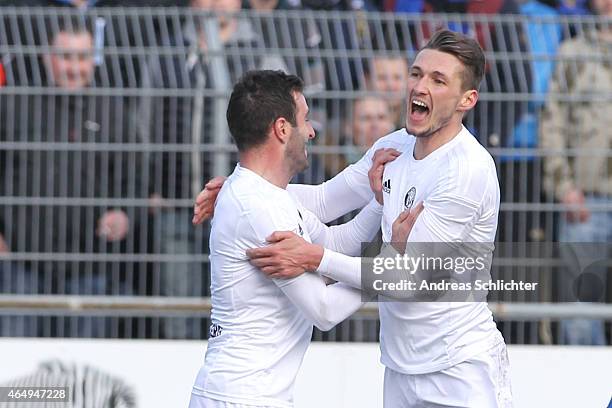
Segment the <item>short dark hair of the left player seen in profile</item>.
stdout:
[[227,123],[239,151],[265,142],[278,118],[297,125],[295,92],[304,82],[283,71],[248,71],[234,85],[227,106]]

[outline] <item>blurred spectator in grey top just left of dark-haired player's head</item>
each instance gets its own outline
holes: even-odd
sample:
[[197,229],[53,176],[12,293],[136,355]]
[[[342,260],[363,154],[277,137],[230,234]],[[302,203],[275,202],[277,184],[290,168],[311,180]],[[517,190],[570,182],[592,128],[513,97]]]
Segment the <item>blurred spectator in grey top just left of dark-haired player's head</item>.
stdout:
[[[143,122],[148,124],[142,129],[143,138],[150,143],[169,145],[151,154],[150,193],[159,204],[153,214],[153,251],[177,256],[207,252],[206,231],[191,225],[191,206],[201,181],[211,176],[213,165],[211,153],[199,149],[202,145],[211,146],[213,133],[218,131],[214,123],[219,115],[225,115],[223,101],[210,93],[229,90],[251,69],[287,70],[280,55],[266,51],[263,39],[251,22],[235,15],[241,9],[240,0],[192,0],[191,7],[194,11],[221,14],[214,20],[206,15],[194,15],[178,35],[162,37],[162,45],[179,47],[184,53],[150,58],[143,79],[145,88],[180,89],[183,96],[169,92],[148,98],[140,113]],[[217,37],[209,37],[215,33]],[[222,47],[226,54],[215,55],[211,52],[215,47]],[[187,204],[180,205],[175,200],[184,200]],[[161,278],[158,289],[161,293],[155,294],[205,295],[208,278],[206,266],[201,262],[168,260],[154,268]],[[167,319],[162,325],[164,336],[199,337],[195,321]]]

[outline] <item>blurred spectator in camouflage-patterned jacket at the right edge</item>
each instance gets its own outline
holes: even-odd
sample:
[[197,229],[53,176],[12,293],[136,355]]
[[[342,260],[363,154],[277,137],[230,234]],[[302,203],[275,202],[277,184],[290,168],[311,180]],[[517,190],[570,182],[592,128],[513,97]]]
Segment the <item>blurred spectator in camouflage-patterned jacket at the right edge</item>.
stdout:
[[[612,17],[611,0],[594,0],[597,14]],[[567,206],[561,214],[559,241],[612,242],[612,30],[609,25],[584,31],[559,48],[559,62],[542,115],[542,147],[557,149],[544,167],[544,188]],[[566,152],[566,149],[578,149]],[[592,207],[603,207],[593,211]],[[581,271],[562,278],[566,290]],[[606,287],[605,268],[591,269]],[[563,290],[563,289],[562,289]],[[575,299],[575,296],[573,297]],[[596,299],[597,300],[597,299]],[[561,322],[570,344],[605,344],[600,320]]]

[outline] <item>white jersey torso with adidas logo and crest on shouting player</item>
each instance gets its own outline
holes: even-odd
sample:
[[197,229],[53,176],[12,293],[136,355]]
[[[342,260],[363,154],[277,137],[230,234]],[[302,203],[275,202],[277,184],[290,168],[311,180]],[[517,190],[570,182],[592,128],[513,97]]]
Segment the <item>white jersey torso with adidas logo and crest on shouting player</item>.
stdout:
[[[464,128],[423,160],[406,154],[385,167],[382,231],[405,209],[423,202],[412,242],[495,240],[499,184],[491,155]],[[454,366],[500,341],[491,311],[483,302],[381,302],[381,361],[400,373],[421,374]]]

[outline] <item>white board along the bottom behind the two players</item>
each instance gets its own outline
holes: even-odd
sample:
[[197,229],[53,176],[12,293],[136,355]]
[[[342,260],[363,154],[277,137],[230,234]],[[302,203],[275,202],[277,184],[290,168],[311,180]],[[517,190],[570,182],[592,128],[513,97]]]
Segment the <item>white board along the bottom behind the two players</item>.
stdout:
[[[204,342],[0,339],[0,382],[51,358],[91,364],[123,378],[140,407],[186,407]],[[606,407],[612,347],[509,347],[516,408]],[[296,384],[296,408],[382,406],[376,344],[313,343]]]

